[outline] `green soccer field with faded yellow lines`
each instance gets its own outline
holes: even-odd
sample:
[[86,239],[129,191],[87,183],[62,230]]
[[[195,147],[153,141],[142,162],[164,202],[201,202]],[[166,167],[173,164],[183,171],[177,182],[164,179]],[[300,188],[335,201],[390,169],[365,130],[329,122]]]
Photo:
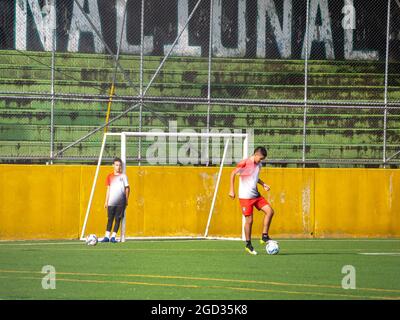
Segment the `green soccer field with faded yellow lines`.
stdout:
[[[400,299],[400,240],[0,242],[1,299]],[[42,267],[56,288],[42,288]],[[343,289],[344,266],[356,289]],[[46,281],[44,281],[46,282]]]

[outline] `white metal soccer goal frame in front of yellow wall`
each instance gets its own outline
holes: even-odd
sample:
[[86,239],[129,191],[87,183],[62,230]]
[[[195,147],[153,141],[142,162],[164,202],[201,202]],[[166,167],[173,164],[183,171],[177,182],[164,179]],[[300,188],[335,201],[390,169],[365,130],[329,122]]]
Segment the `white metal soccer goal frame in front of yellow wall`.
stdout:
[[[217,199],[218,188],[221,180],[222,169],[224,166],[224,161],[226,157],[226,153],[228,150],[228,145],[231,139],[233,138],[242,138],[243,139],[243,159],[248,157],[249,150],[249,134],[247,133],[195,133],[195,132],[110,132],[105,133],[103,136],[103,141],[101,144],[100,155],[97,161],[96,173],[93,179],[92,189],[90,192],[89,202],[86,209],[85,220],[82,226],[80,240],[85,240],[85,231],[87,226],[87,221],[89,218],[90,209],[93,202],[94,192],[96,189],[96,183],[99,176],[100,165],[103,158],[104,148],[106,145],[106,140],[108,136],[120,136],[121,137],[121,160],[122,160],[122,170],[123,173],[126,172],[126,138],[127,137],[198,137],[198,138],[225,138],[225,146],[224,152],[221,159],[221,164],[218,171],[217,182],[214,189],[214,194],[208,214],[207,225],[205,228],[205,232],[203,236],[149,236],[149,237],[126,237],[126,213],[124,212],[124,218],[121,223],[121,237],[120,241],[125,242],[126,240],[157,240],[157,239],[222,239],[222,240],[244,240],[244,217],[242,217],[242,233],[241,238],[228,238],[228,237],[210,237],[208,232],[211,224],[211,218],[214,211],[215,202]],[[207,149],[208,150],[208,149]],[[240,183],[240,182],[239,182]]]

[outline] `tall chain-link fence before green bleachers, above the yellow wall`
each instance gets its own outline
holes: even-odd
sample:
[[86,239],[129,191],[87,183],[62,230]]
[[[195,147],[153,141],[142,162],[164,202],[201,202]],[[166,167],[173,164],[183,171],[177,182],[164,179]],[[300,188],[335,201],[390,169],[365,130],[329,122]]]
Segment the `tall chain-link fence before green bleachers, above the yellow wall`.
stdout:
[[398,167],[399,17],[399,0],[0,0],[0,161],[226,130],[274,165]]

